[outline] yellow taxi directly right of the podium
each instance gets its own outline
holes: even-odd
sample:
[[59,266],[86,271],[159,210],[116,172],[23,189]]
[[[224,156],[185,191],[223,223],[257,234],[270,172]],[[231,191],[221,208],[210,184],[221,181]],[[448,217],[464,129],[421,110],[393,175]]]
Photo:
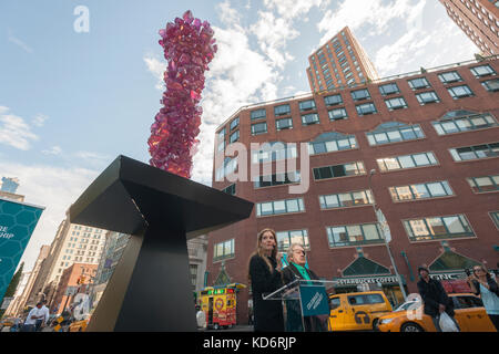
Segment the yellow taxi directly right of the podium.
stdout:
[[329,331],[377,330],[378,319],[391,312],[383,291],[329,295]]

